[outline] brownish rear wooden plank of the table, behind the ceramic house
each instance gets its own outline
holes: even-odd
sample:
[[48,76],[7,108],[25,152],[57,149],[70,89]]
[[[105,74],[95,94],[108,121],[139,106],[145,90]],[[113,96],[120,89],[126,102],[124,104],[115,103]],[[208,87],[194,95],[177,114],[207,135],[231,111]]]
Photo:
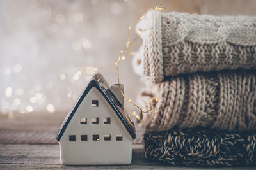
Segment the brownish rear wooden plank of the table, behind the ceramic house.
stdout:
[[[67,113],[0,114],[0,143],[57,143],[58,130]],[[136,127],[134,143],[142,143],[143,129]]]

